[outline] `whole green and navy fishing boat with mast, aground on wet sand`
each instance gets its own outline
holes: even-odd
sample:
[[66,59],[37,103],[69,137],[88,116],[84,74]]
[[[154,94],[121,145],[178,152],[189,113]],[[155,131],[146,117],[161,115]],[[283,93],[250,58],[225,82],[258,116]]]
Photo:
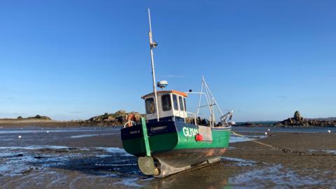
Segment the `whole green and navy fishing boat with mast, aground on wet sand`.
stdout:
[[[152,38],[149,9],[148,18],[153,92],[142,97],[146,118],[141,118],[138,124],[128,119],[121,129],[121,139],[125,151],[138,158],[141,172],[160,178],[218,162],[228,148],[231,126],[227,120],[231,120],[233,111],[221,111],[203,76],[200,92],[164,90],[168,85],[166,80],[156,83],[153,48],[158,43]],[[187,111],[186,99],[190,94],[200,95],[196,113]],[[207,105],[201,105],[202,97]],[[209,109],[209,120],[200,119],[202,108]],[[218,123],[215,110],[220,113]]]

